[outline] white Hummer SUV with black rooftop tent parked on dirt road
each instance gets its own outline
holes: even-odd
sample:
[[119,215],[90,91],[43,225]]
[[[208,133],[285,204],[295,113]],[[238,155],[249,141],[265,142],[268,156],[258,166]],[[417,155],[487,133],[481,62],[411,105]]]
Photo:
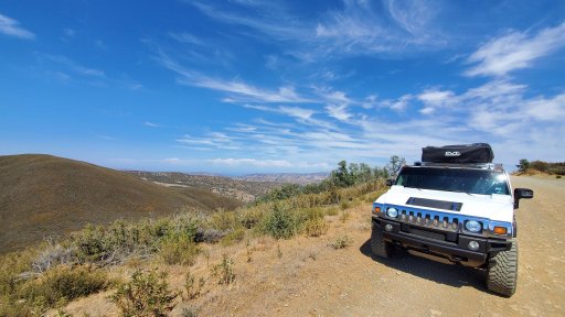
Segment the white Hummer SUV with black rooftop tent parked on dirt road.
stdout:
[[488,144],[423,149],[423,162],[404,166],[373,204],[371,249],[394,247],[438,261],[487,270],[487,287],[510,297],[518,276],[514,209],[527,188],[512,192]]

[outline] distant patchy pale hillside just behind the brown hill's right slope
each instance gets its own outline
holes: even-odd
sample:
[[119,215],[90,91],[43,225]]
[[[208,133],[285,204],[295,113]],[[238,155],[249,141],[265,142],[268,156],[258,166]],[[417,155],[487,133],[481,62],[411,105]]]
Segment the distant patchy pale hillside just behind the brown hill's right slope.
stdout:
[[151,181],[167,186],[189,186],[207,189],[224,197],[250,203],[267,194],[270,189],[280,187],[280,183],[248,182],[224,176],[191,175],[178,172],[142,172],[125,171],[141,179]]

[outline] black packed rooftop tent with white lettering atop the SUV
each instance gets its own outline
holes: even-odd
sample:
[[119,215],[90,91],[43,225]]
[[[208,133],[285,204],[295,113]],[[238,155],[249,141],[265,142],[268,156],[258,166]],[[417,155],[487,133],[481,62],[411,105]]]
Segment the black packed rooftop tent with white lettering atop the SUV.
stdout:
[[492,163],[494,153],[487,143],[426,146],[422,149],[422,162],[427,163]]

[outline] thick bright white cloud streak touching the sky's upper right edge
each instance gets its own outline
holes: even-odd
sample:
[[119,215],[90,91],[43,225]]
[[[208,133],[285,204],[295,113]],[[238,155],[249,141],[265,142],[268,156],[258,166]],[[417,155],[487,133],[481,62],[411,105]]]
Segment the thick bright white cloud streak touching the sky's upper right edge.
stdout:
[[565,22],[539,31],[514,31],[481,45],[467,62],[475,64],[466,76],[504,76],[565,46]]

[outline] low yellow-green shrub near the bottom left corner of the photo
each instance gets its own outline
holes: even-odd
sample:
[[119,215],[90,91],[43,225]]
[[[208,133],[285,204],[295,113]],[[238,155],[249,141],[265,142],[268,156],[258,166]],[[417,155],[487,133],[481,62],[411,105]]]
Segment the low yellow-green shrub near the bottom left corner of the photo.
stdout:
[[109,285],[103,271],[86,266],[56,266],[22,287],[22,297],[44,302],[49,307],[58,306],[74,298],[98,293]]

